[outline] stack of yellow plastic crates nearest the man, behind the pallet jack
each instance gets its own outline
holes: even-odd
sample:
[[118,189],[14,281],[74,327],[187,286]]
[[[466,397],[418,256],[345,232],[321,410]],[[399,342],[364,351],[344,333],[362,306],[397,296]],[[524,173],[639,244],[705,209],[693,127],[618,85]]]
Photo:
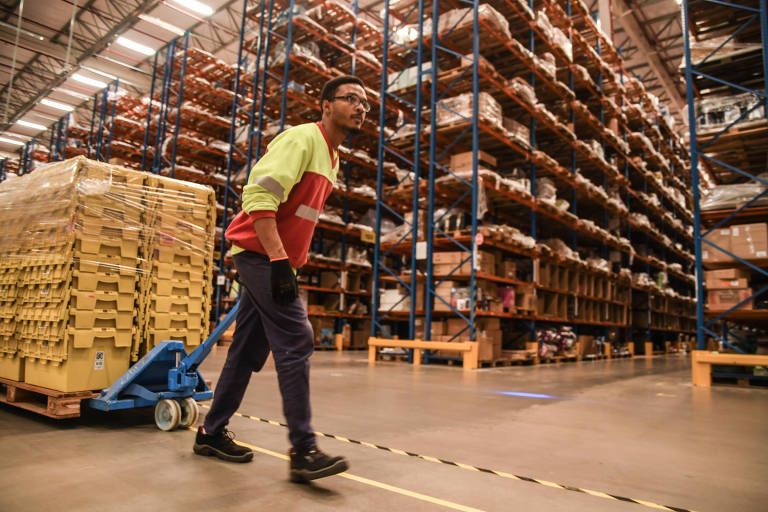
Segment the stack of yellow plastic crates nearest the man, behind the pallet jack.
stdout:
[[163,340],[193,350],[208,335],[216,196],[210,187],[148,176],[147,239],[135,359]]

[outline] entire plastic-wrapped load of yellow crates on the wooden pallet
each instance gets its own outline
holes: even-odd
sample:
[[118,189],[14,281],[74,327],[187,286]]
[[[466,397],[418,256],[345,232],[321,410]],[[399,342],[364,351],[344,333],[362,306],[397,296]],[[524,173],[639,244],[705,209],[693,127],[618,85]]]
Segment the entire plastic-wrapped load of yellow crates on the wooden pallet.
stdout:
[[[189,347],[207,335],[212,189],[76,157],[0,183],[0,204],[1,377],[103,389],[145,335]],[[199,322],[145,334],[147,297],[161,293],[171,313],[196,302]]]

